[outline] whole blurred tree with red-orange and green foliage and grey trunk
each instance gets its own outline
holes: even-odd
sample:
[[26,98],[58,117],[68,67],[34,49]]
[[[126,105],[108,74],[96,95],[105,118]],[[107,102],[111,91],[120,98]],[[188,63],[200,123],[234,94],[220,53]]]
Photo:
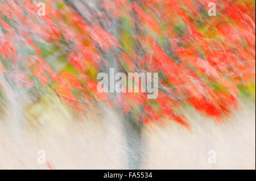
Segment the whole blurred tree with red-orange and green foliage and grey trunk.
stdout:
[[[167,118],[189,129],[185,104],[221,121],[255,85],[254,1],[211,1],[216,16],[206,0],[42,2],[46,16],[36,1],[1,1],[0,81],[54,94],[79,112],[113,107],[123,117],[131,169],[139,169],[144,123]],[[47,60],[56,52],[62,57]],[[59,60],[67,65],[55,66]],[[159,73],[158,97],[98,92],[97,73],[110,68]]]

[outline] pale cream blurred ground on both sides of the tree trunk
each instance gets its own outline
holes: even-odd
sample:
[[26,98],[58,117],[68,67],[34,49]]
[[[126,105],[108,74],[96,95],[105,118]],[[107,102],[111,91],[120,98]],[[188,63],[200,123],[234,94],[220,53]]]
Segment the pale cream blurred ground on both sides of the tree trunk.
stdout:
[[[0,169],[127,169],[122,124],[112,111],[78,120],[46,104],[30,110],[38,120],[19,109],[0,116]],[[222,124],[187,114],[191,131],[173,121],[143,128],[142,169],[255,169],[255,103]],[[46,164],[38,163],[38,150],[46,151]]]

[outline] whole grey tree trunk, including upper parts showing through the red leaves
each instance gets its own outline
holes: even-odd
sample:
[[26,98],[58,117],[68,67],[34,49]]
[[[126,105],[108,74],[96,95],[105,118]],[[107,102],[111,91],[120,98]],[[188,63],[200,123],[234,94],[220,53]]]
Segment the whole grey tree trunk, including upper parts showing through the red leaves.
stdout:
[[[72,0],[64,0],[64,2],[72,7],[73,10],[75,10],[79,15],[82,16],[82,18],[85,19],[87,24],[91,24],[92,22],[90,22],[90,20],[88,18],[86,18],[88,16],[88,14],[86,14],[87,12],[90,13],[90,11],[84,11],[84,9],[86,10],[90,10],[90,6],[87,6],[85,2],[81,2],[81,1],[72,1]],[[104,10],[104,7],[101,6],[102,3],[100,1],[96,1],[96,9],[92,10],[95,12],[102,12],[102,10]],[[135,14],[135,11],[134,11]],[[93,16],[93,12],[92,14],[90,14]],[[108,16],[108,13],[105,11],[105,15]],[[95,17],[94,17],[95,18]],[[111,22],[107,23],[107,24],[103,24],[101,22],[101,18],[96,18],[97,22],[93,22],[95,24],[98,24],[98,26],[101,26],[104,30],[107,30],[108,32],[110,32],[117,40],[118,40],[118,23],[117,23],[117,19],[114,17],[109,17],[109,20],[111,20]],[[137,19],[137,17],[135,17],[135,19]],[[137,22],[137,21],[135,21]],[[139,34],[139,29],[138,29],[138,24],[135,24],[136,27],[136,34]],[[138,47],[138,43],[136,45],[136,51],[139,51],[139,47]],[[121,65],[119,65],[118,62],[118,58],[116,56],[118,52],[118,48],[114,48],[112,51],[109,52],[102,52],[102,55],[104,57],[104,59],[108,62],[107,66],[102,66],[102,70],[106,73],[108,73],[109,75],[109,69],[110,68],[114,68],[115,71],[123,71]],[[114,83],[114,82],[113,82]],[[110,95],[111,98],[115,97],[115,94],[113,93],[112,95]],[[125,132],[125,137],[126,137],[126,142],[127,142],[127,159],[128,159],[128,166],[129,169],[140,169],[141,166],[141,131],[142,131],[142,122],[141,120],[137,120],[135,119],[133,113],[128,113],[128,114],[124,114],[123,115],[123,129]]]

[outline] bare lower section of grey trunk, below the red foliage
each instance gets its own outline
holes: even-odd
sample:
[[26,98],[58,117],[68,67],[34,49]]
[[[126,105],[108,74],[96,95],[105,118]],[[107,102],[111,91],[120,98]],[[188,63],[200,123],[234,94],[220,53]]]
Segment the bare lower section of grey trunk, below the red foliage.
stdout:
[[124,113],[123,129],[127,144],[128,169],[141,169],[141,133],[142,122],[136,120],[132,113]]

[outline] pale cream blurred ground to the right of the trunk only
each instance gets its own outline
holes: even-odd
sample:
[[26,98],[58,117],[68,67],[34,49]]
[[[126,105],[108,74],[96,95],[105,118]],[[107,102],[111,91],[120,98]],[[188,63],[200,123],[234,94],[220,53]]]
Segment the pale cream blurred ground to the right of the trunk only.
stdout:
[[[145,131],[143,169],[255,169],[255,104],[221,124],[189,115],[191,132],[175,123]],[[215,164],[208,162],[210,150],[216,153]]]

